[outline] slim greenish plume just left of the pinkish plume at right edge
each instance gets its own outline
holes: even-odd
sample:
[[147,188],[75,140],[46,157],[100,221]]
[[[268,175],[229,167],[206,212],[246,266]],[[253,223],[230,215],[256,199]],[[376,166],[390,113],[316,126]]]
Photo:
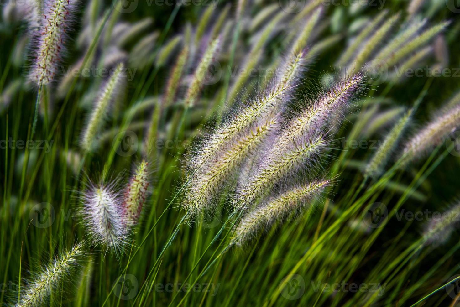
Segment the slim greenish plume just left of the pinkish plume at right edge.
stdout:
[[413,109],[410,109],[397,123],[391,128],[391,131],[385,137],[383,144],[370,159],[365,169],[365,176],[378,177],[382,174],[388,160],[391,158],[399,140],[403,136],[404,131],[407,129],[412,118]]

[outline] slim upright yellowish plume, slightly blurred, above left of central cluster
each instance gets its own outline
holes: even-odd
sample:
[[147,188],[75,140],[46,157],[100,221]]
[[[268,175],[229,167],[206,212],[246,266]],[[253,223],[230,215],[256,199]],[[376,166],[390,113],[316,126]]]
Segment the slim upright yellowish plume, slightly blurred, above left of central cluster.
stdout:
[[206,83],[207,70],[209,65],[213,63],[214,57],[217,55],[219,44],[219,38],[212,40],[211,43],[207,46],[203,57],[201,57],[201,61],[196,67],[193,79],[185,96],[185,108],[192,108],[195,105],[196,100],[200,95],[201,89]]

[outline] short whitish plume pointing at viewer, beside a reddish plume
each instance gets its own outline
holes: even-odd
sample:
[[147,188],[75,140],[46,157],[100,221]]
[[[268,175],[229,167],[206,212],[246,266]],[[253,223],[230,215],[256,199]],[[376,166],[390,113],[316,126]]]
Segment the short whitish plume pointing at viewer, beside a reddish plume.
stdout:
[[81,201],[81,215],[92,239],[106,251],[114,251],[115,254],[122,252],[127,244],[129,229],[115,184],[90,183]]

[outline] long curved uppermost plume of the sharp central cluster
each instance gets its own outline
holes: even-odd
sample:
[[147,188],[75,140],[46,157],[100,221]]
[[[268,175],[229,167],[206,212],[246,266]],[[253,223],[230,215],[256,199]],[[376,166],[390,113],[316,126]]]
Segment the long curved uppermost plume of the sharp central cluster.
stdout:
[[238,133],[253,124],[257,119],[264,118],[268,114],[277,113],[283,102],[288,100],[293,91],[299,85],[300,78],[305,71],[305,51],[289,57],[287,63],[281,69],[277,83],[271,86],[253,102],[244,107],[235,117],[229,119],[218,128],[213,136],[207,141],[200,153],[193,161],[196,166],[202,165],[216,152],[222,149],[229,140]]

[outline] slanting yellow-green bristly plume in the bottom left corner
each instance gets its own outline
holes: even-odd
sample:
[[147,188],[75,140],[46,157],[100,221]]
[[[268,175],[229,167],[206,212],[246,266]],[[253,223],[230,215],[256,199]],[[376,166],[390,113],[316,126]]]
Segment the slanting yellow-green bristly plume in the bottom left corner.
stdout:
[[72,278],[72,273],[79,267],[86,256],[84,244],[75,244],[72,249],[60,252],[40,273],[33,275],[21,296],[17,307],[52,306],[50,296],[60,293],[63,283]]

